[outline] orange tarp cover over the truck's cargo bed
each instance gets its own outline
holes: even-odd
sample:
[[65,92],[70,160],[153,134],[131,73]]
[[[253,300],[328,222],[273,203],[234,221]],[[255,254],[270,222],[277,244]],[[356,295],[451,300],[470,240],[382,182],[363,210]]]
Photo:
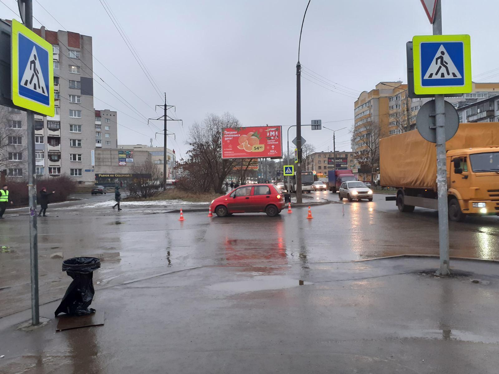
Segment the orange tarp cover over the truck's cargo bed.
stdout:
[[[447,151],[499,146],[499,123],[461,123]],[[449,172],[449,171],[448,171]],[[382,186],[437,188],[437,151],[417,130],[380,140]]]

